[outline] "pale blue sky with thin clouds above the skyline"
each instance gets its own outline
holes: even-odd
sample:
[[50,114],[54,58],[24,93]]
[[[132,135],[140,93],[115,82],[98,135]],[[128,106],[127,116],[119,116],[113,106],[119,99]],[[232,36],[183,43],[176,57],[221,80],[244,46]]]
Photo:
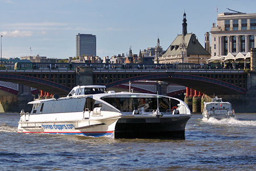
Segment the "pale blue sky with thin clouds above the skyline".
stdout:
[[[2,57],[47,56],[67,59],[76,55],[76,35],[93,34],[97,56],[133,53],[155,47],[166,50],[182,32],[184,11],[188,33],[204,47],[218,14],[226,8],[256,13],[255,0],[0,0]],[[30,49],[31,47],[31,49]]]

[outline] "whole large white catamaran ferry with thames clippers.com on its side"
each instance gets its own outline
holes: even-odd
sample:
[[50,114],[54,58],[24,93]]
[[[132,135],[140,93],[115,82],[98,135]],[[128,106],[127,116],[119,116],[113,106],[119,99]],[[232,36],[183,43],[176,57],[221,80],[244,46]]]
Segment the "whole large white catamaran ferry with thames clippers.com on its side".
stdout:
[[67,97],[32,101],[20,112],[24,133],[185,139],[191,111],[180,99],[156,94],[106,91],[105,86],[76,86]]

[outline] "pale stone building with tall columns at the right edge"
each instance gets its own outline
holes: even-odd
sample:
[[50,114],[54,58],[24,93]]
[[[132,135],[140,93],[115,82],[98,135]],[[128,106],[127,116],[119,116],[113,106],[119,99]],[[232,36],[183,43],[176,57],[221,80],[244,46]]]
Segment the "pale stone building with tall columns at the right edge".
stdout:
[[250,52],[256,44],[256,14],[224,12],[210,30],[212,56]]

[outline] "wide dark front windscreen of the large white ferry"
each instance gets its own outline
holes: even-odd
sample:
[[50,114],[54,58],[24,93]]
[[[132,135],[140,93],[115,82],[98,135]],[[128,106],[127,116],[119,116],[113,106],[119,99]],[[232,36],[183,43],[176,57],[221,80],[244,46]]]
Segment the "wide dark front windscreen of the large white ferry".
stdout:
[[172,108],[172,101],[170,98],[102,98],[105,102],[114,106],[123,112],[133,112],[133,110],[153,111],[170,111]]

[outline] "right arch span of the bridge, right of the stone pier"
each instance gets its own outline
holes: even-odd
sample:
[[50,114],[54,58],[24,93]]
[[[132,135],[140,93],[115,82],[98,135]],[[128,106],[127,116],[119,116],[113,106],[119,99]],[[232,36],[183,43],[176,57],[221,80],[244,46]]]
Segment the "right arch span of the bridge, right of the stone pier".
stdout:
[[157,80],[191,87],[207,95],[246,93],[247,74],[243,70],[102,70],[94,69],[93,84],[113,87],[129,81]]

